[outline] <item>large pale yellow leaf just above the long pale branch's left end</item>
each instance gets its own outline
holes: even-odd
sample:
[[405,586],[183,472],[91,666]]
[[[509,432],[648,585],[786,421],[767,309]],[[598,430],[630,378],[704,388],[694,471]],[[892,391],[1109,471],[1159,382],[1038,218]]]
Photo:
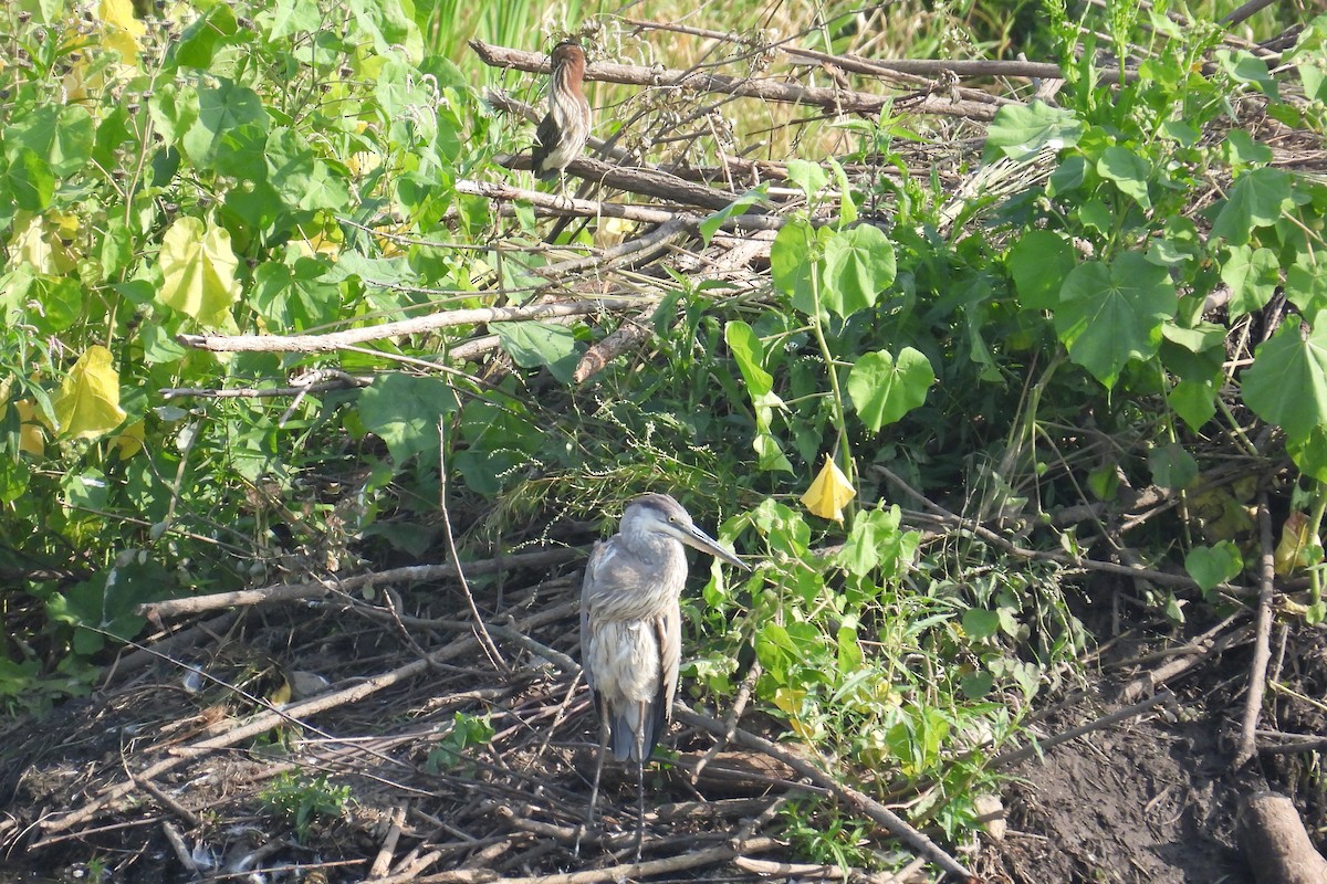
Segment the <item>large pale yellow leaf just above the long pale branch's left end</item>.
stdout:
[[182,217],[162,237],[162,293],[165,305],[216,327],[230,318],[240,297],[235,277],[239,258],[231,250],[231,235],[207,227],[202,219]]

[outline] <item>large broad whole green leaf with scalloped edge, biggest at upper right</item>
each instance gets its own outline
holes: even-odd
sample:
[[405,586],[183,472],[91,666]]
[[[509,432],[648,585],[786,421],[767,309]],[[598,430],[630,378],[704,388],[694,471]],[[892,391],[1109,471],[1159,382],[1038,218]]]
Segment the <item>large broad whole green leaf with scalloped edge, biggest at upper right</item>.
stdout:
[[1055,330],[1070,351],[1107,388],[1129,359],[1151,359],[1161,345],[1161,323],[1174,315],[1174,284],[1165,268],[1137,252],[1115,264],[1074,268],[1060,293]]

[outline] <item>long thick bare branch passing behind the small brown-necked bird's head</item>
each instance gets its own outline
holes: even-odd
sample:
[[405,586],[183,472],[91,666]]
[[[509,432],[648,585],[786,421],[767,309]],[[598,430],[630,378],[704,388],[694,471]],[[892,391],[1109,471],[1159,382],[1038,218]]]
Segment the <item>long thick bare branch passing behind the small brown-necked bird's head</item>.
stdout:
[[[516,70],[528,70],[531,73],[548,70],[548,56],[543,53],[495,46],[482,40],[471,40],[470,48],[475,50],[486,65],[492,68],[515,68]],[[585,80],[632,86],[652,86],[654,89],[713,91],[788,105],[815,105],[836,114],[880,114],[894,101],[893,95],[876,95],[824,86],[800,86],[783,80],[729,77],[726,74],[711,74],[699,70],[645,68],[608,61],[597,61],[587,66]],[[979,121],[989,121],[995,117],[995,110],[990,105],[932,97],[925,97],[917,103],[909,105],[909,110],[922,114],[943,114]]]

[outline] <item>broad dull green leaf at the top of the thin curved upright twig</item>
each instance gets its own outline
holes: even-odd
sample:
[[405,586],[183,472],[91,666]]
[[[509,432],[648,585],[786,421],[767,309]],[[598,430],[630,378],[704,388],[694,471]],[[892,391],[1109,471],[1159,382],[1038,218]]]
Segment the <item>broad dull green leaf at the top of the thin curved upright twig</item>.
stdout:
[[439,378],[378,375],[360,394],[364,428],[387,444],[397,468],[418,453],[438,453],[438,423],[456,410],[456,394]]

